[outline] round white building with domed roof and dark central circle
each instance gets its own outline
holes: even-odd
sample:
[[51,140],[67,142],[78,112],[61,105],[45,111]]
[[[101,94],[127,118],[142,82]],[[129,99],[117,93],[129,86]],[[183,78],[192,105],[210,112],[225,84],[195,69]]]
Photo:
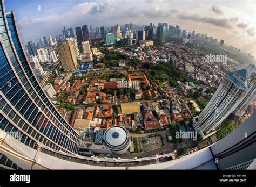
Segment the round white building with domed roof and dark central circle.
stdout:
[[104,140],[113,154],[123,154],[129,148],[130,134],[121,126],[112,126],[105,131]]

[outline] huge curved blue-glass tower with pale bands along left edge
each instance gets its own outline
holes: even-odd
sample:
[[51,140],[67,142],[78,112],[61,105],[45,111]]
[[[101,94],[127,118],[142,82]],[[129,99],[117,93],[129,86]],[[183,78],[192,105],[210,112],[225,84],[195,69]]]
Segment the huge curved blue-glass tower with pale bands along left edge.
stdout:
[[5,15],[3,8],[0,20],[6,37],[0,39],[4,67],[0,68],[0,128],[19,134],[17,140],[31,148],[40,145],[78,153],[79,135],[46,97],[21,45],[14,11]]

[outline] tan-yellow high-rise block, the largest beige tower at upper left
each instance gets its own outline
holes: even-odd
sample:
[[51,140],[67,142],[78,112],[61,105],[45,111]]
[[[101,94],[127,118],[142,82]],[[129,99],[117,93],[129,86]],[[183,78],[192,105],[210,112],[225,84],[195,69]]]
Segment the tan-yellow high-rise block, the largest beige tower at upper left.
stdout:
[[65,72],[77,69],[77,59],[72,41],[66,40],[57,46],[59,59]]

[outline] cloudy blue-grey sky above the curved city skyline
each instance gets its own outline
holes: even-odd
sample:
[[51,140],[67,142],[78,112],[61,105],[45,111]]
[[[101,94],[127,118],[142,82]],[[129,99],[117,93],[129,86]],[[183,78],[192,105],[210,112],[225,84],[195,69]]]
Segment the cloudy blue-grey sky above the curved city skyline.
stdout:
[[63,26],[179,25],[225,40],[256,57],[255,0],[5,0],[15,11],[23,44],[62,34]]

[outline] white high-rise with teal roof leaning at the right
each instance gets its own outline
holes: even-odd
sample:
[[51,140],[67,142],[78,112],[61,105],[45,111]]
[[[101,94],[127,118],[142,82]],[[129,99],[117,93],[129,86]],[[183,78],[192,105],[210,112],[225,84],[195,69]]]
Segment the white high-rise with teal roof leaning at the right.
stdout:
[[[255,84],[255,77],[251,80]],[[204,132],[209,132],[222,123],[232,113],[242,99],[251,89],[250,77],[245,69],[228,72],[227,77],[220,83],[210,102],[198,117],[193,118],[194,129],[204,137]]]

